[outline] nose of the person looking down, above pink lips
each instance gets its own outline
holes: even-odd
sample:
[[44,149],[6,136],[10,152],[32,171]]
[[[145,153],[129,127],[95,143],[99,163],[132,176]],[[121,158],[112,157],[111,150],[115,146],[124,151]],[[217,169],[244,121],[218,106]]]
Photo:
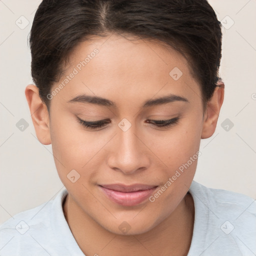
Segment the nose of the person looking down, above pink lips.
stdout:
[[107,158],[108,166],[125,174],[148,168],[150,155],[145,144],[134,125],[126,131],[117,127]]

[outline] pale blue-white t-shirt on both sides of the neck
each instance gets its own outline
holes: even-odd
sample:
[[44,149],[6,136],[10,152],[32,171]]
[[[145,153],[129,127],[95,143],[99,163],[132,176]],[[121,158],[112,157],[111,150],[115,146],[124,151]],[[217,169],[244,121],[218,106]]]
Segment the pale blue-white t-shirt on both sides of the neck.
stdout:
[[[189,192],[195,217],[188,256],[256,254],[255,200],[195,181]],[[84,256],[63,214],[66,195],[63,190],[53,200],[5,221],[0,226],[0,256]]]

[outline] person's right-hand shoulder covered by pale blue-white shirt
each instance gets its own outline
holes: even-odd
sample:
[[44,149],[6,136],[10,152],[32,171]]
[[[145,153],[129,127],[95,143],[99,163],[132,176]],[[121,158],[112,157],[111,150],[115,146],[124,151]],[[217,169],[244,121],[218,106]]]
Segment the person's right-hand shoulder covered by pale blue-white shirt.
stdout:
[[189,192],[195,206],[193,249],[198,249],[195,244],[200,240],[200,248],[207,248],[207,244],[212,243],[205,250],[208,255],[253,255],[256,252],[254,199],[224,189],[208,188],[195,181]]

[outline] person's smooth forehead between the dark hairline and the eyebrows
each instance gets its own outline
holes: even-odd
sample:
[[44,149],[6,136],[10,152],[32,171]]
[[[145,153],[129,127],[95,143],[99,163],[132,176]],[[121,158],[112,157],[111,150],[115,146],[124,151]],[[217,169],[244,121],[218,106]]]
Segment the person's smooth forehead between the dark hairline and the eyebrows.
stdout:
[[[72,73],[71,79],[66,78]],[[54,86],[64,80],[61,94],[66,100],[81,92],[108,98],[130,95],[134,100],[143,95],[150,98],[157,91],[185,93],[187,97],[191,87],[200,93],[187,60],[179,52],[159,41],[115,33],[77,44]]]

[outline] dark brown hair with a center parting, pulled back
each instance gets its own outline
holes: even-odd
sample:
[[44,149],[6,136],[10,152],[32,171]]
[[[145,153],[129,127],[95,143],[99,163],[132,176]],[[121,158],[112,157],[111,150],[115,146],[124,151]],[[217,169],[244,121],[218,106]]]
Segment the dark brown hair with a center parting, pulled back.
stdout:
[[47,94],[75,46],[113,32],[163,42],[185,56],[205,107],[220,79],[222,39],[221,23],[206,0],[43,0],[29,44],[31,76],[47,107]]

